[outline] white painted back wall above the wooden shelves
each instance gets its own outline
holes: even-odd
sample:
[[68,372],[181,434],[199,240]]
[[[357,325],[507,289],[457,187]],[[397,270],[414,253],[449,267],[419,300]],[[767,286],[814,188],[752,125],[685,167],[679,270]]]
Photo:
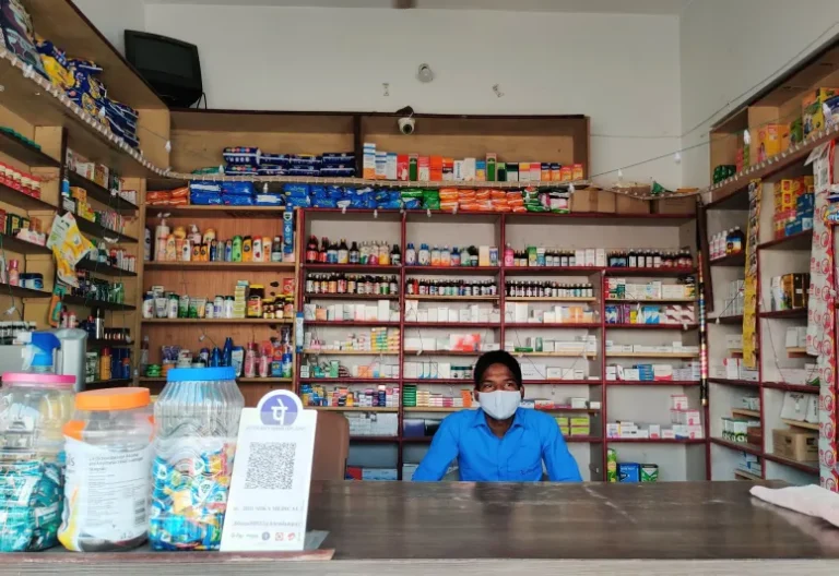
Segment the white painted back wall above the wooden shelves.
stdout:
[[[676,16],[151,4],[145,17],[200,47],[213,108],[584,113],[593,173],[680,141]],[[414,77],[422,62],[430,84]],[[677,185],[681,168],[625,170],[650,177]]]

